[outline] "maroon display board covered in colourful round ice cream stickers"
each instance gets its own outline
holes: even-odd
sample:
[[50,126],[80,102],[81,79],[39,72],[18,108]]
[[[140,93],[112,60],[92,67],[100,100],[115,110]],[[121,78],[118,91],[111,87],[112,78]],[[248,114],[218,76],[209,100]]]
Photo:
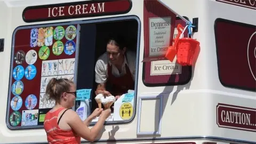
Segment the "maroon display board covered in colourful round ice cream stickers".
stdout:
[[19,29],[13,36],[6,123],[10,129],[43,127],[55,106],[45,98],[47,83],[74,79],[77,25]]

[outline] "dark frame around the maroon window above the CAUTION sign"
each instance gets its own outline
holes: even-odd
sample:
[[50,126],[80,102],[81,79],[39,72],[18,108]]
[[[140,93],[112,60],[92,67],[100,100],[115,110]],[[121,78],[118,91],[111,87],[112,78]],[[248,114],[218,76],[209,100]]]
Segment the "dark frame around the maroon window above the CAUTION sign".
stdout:
[[226,23],[231,23],[231,24],[235,24],[235,25],[239,25],[239,26],[248,26],[248,27],[255,27],[254,25],[250,25],[248,23],[243,23],[243,22],[237,22],[237,21],[233,21],[233,20],[228,20],[228,19],[223,19],[223,18],[217,18],[214,21],[214,40],[215,40],[215,47],[216,47],[216,57],[217,57],[217,68],[218,68],[218,77],[219,77],[219,81],[221,83],[222,86],[229,88],[229,89],[238,89],[238,90],[242,90],[242,91],[252,91],[252,92],[256,92],[256,89],[250,89],[247,87],[242,87],[242,86],[237,86],[237,85],[230,85],[230,84],[226,84],[222,81],[222,78],[220,76],[220,58],[219,58],[219,44],[218,44],[218,38],[217,38],[217,23],[218,22],[226,22]]

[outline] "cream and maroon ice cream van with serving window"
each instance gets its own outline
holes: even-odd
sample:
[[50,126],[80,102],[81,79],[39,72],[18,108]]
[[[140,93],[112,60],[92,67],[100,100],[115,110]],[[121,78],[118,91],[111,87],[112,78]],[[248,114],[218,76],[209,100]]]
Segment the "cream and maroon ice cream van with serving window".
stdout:
[[135,54],[127,60],[132,78],[120,83],[134,88],[118,96],[92,143],[256,143],[255,7],[255,0],[0,1],[0,143],[47,143],[53,77],[76,83],[73,109],[82,119],[99,107],[95,63],[110,35]]

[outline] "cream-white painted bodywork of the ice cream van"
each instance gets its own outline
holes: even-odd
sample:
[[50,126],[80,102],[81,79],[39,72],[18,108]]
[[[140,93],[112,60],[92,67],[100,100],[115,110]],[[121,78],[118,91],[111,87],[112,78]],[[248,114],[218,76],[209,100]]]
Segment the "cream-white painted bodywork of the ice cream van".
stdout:
[[[223,107],[244,107],[242,109],[248,108],[247,110],[252,110],[256,113],[256,93],[255,91],[232,89],[220,83],[214,35],[214,21],[217,18],[255,26],[255,9],[214,0],[162,0],[163,3],[170,6],[180,15],[185,15],[190,21],[193,18],[198,18],[198,32],[194,33],[193,38],[200,42],[201,51],[196,66],[193,67],[194,72],[189,83],[175,86],[148,87],[142,82],[142,55],[144,53],[143,1],[132,1],[131,11],[119,15],[31,23],[24,22],[21,17],[22,11],[27,6],[77,1],[0,1],[0,38],[4,38],[4,51],[0,52],[0,103],[2,106],[0,109],[0,114],[2,115],[0,118],[0,143],[47,143],[44,129],[10,130],[6,126],[8,101],[6,96],[9,93],[10,61],[12,59],[12,37],[14,30],[20,26],[79,20],[86,21],[128,15],[136,15],[141,23],[139,46],[139,55],[141,56],[138,60],[138,79],[136,80],[138,87],[136,114],[130,123],[106,125],[106,130],[103,131],[103,134],[94,143],[256,143],[256,120],[249,117],[253,115],[244,114],[246,116],[246,123],[255,125],[254,130],[237,130],[233,129],[234,127],[221,127],[217,124],[217,109],[218,106],[221,106],[220,103],[225,103],[225,105],[222,105]],[[245,1],[241,0],[241,2]],[[256,1],[250,2],[256,3]],[[239,37],[239,34],[237,36]],[[159,104],[161,101],[156,102],[157,99],[162,101],[162,105]],[[158,116],[161,114],[157,110],[162,112],[162,117]],[[149,113],[149,111],[154,113]],[[222,112],[223,117],[221,118],[223,121],[227,120],[225,120],[225,113],[228,112]],[[117,131],[115,131],[116,127],[118,127]],[[160,134],[148,135],[143,133],[157,133],[157,131]],[[142,133],[140,134],[140,132]],[[82,143],[90,142],[82,139]]]

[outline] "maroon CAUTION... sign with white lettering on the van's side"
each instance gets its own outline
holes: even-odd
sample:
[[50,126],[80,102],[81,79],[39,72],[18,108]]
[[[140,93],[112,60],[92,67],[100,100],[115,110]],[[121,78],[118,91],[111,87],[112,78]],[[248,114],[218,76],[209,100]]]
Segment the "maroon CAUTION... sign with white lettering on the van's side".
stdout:
[[217,124],[219,127],[256,132],[256,109],[219,103]]

